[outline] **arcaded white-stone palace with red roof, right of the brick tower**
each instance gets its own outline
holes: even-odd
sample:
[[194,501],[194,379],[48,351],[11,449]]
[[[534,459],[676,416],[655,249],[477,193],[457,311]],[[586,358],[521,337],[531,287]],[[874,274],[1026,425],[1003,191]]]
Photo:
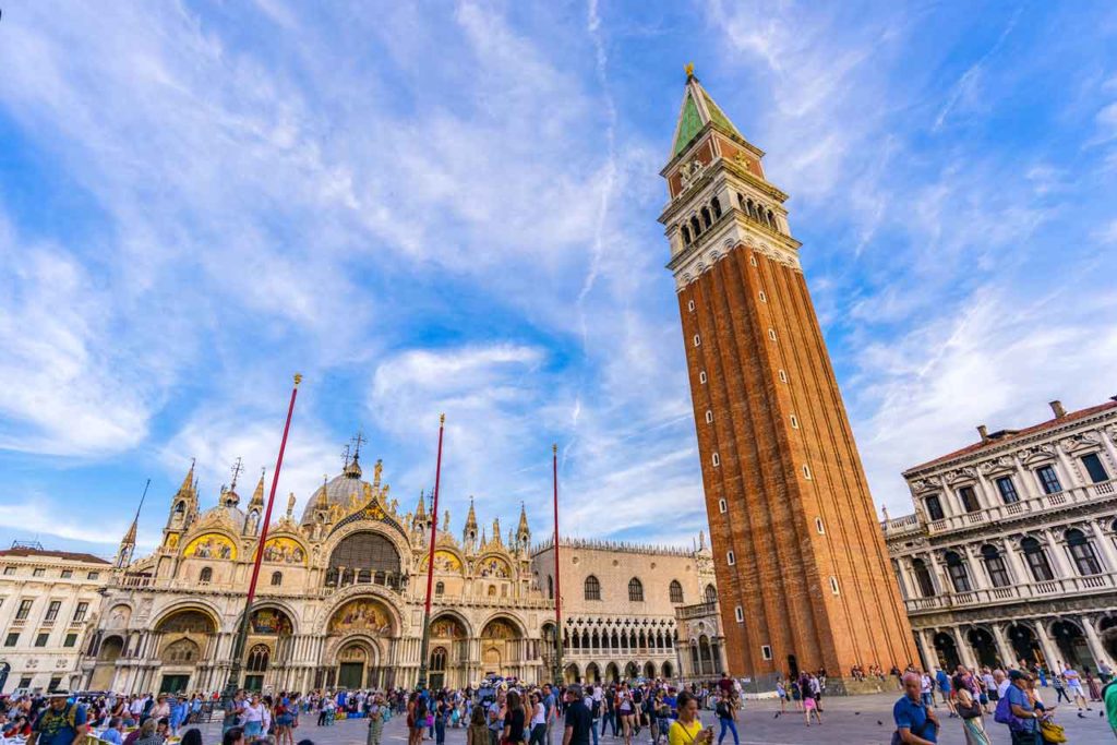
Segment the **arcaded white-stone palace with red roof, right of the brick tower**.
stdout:
[[925,666],[1110,667],[1117,625],[1117,400],[990,432],[904,472],[882,523]]

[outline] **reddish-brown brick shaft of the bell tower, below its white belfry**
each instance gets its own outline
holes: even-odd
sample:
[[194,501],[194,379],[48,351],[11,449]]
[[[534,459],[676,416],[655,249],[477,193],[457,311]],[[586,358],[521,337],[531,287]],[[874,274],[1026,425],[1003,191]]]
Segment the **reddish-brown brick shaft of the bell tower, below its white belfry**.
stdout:
[[678,298],[731,671],[916,660],[803,274],[738,245]]

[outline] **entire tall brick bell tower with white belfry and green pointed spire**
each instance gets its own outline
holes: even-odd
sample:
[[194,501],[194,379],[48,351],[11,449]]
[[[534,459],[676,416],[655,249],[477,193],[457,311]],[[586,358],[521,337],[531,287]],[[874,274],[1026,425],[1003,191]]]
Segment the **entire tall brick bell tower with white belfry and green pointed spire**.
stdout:
[[918,660],[791,237],[787,195],[687,67],[667,227],[729,671]]

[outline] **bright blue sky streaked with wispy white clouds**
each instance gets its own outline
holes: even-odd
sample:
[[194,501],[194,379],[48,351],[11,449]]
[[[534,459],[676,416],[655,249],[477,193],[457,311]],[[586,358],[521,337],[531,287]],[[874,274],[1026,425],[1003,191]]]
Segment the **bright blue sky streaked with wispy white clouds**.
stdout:
[[198,458],[305,500],[363,429],[460,529],[705,524],[656,222],[682,65],[767,152],[875,498],[1117,393],[1117,8],[7,3],[0,543],[151,545]]

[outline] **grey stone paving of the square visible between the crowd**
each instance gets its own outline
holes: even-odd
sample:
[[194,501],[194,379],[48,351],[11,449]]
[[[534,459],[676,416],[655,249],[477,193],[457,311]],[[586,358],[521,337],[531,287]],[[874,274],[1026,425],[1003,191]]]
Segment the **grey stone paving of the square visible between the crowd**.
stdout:
[[[891,708],[898,695],[881,694],[877,696],[853,696],[848,698],[823,699],[822,726],[803,724],[803,715],[793,706],[781,716],[780,705],[775,701],[747,701],[737,720],[741,745],[887,745],[891,738]],[[1070,745],[1095,745],[1117,743],[1104,717],[1099,717],[1101,705],[1092,705],[1094,710],[1087,711],[1085,718],[1076,716],[1073,708],[1059,708],[1057,720],[1067,728],[1067,739]],[[943,729],[938,742],[942,745],[964,745],[962,724],[958,719],[947,719],[946,710],[939,707]],[[362,719],[338,722],[332,727],[317,727],[314,717],[304,717],[304,724],[295,730],[295,741],[311,739],[315,745],[361,745],[367,733],[366,723]],[[703,713],[703,720],[714,726],[717,735],[717,719],[712,711]],[[878,724],[880,723],[880,724]],[[600,725],[599,725],[600,727]],[[1011,742],[1008,728],[985,717],[985,730],[994,745],[1009,745]],[[600,729],[599,729],[600,732]],[[202,727],[204,745],[220,745],[221,727],[219,724]],[[464,745],[465,729],[448,729],[447,745]],[[384,728],[384,745],[395,745],[407,742],[403,717],[393,717]],[[601,745],[623,745],[623,738],[605,736]],[[648,745],[648,732],[645,729],[639,737],[632,738],[632,745]],[[725,745],[733,743],[733,735],[726,733]],[[433,741],[424,741],[424,745],[433,745]],[[562,745],[562,735],[555,733],[552,745]]]

